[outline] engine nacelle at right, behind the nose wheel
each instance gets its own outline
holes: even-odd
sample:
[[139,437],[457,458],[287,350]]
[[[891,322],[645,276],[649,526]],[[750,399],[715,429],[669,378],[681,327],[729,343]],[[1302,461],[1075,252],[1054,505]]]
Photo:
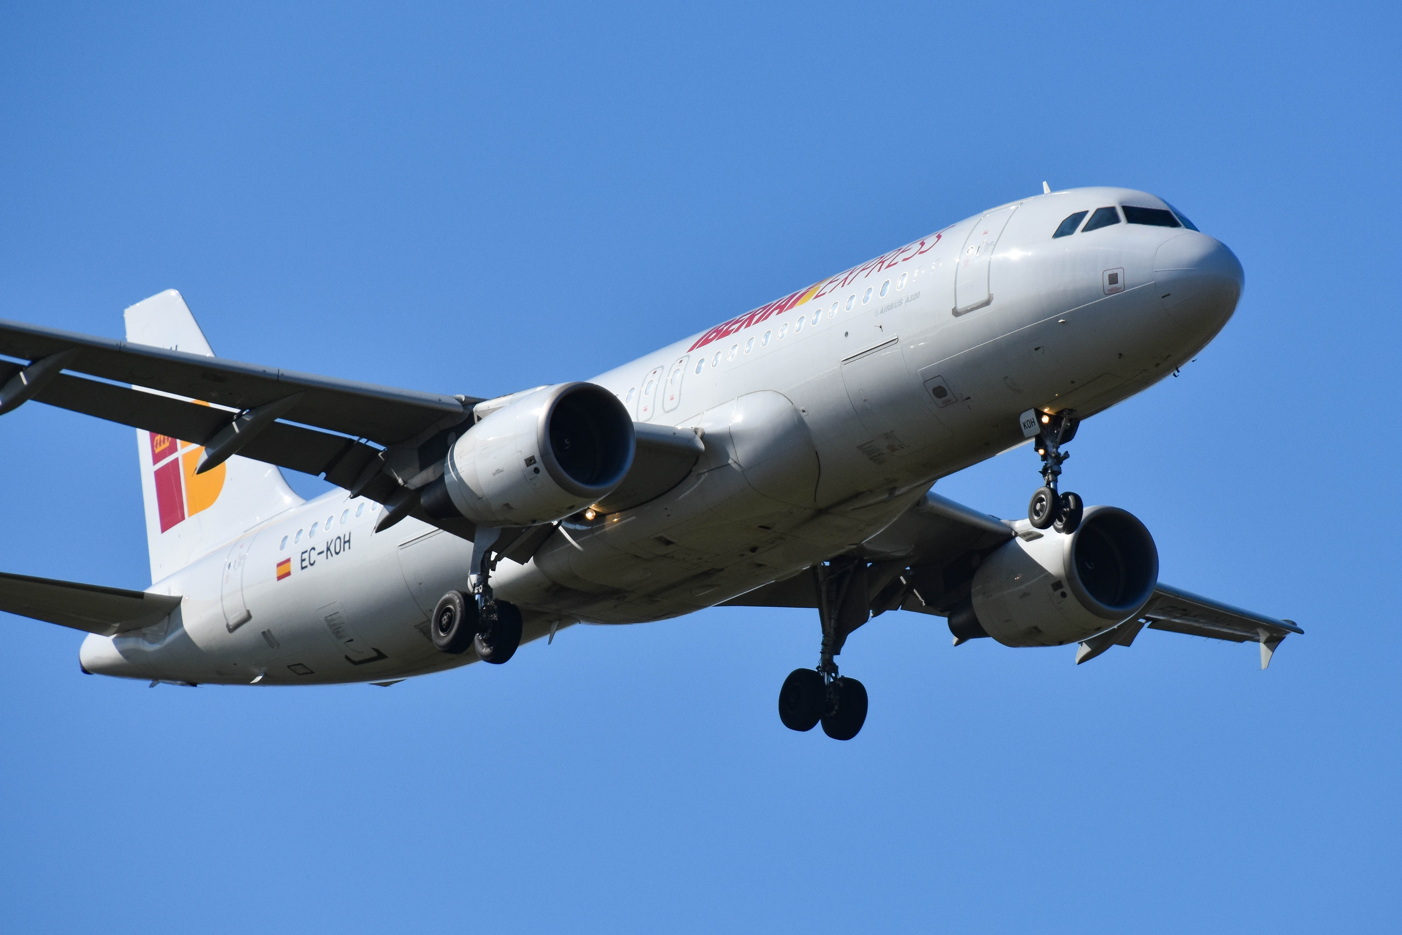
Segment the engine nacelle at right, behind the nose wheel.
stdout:
[[1061,646],[1129,620],[1157,585],[1158,548],[1144,524],[1119,507],[1091,506],[1070,535],[1049,528],[1032,541],[1018,537],[984,559],[973,613],[1005,646]]

